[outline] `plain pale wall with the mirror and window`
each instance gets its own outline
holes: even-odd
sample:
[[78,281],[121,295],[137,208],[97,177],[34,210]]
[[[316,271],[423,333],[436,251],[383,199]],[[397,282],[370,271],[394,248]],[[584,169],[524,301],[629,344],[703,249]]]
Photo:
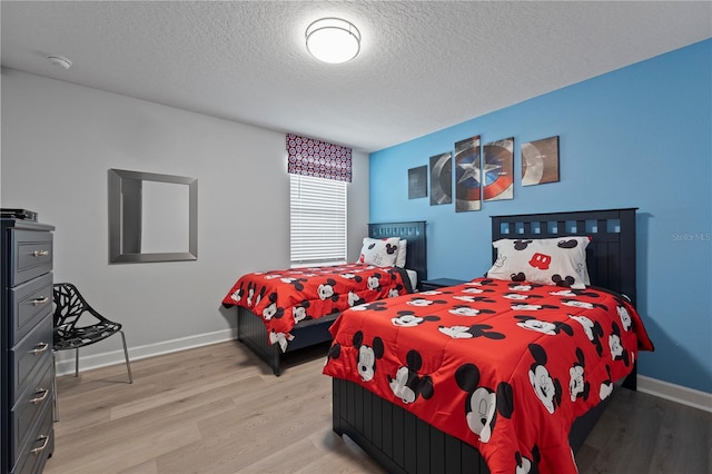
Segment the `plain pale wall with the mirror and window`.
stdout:
[[[125,325],[144,357],[234,337],[220,300],[244,273],[289,265],[285,135],[2,69],[0,203],[55,233],[55,282]],[[348,145],[348,144],[345,144]],[[198,178],[198,260],[108,263],[108,169]],[[368,221],[368,159],[354,152],[349,259]],[[121,362],[120,339],[80,367]],[[60,354],[60,372],[71,354]]]

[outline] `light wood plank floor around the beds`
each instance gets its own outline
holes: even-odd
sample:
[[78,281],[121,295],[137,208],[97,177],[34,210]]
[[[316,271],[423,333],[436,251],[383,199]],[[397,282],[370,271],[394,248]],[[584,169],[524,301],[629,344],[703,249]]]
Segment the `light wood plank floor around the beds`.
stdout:
[[[379,473],[330,428],[326,347],[275,377],[221,343],[58,379],[44,473]],[[708,474],[712,414],[620,389],[577,455],[581,473]]]

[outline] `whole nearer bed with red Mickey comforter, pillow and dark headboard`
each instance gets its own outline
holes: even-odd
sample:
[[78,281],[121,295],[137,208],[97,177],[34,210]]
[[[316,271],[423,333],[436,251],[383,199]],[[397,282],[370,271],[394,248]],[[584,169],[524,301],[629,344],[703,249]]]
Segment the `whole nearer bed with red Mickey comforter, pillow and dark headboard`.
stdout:
[[[614,385],[635,389],[637,350],[653,349],[634,309],[635,209],[495,216],[492,239],[485,278],[332,327],[333,428],[388,472],[576,472]],[[556,267],[536,247],[550,241],[585,267]],[[518,250],[551,280],[514,270]]]

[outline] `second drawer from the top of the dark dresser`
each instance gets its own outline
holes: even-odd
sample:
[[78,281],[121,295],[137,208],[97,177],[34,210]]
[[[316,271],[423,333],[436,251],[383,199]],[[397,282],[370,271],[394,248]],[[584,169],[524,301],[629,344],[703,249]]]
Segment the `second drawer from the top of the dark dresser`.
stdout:
[[34,325],[52,312],[52,274],[10,289],[10,345],[16,345]]

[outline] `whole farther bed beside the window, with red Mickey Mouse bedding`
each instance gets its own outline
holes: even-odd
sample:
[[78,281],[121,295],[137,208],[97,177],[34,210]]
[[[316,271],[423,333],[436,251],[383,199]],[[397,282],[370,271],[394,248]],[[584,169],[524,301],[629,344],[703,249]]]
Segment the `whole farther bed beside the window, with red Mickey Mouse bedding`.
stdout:
[[[338,316],[338,312],[335,309],[336,304],[330,304],[334,297],[330,293],[340,293],[342,296],[348,294],[348,307],[393,296],[394,292],[412,293],[419,282],[427,278],[425,224],[425,221],[407,221],[368,225],[368,237],[364,239],[365,247],[368,239],[379,240],[378,245],[399,241],[406,246],[405,259],[398,261],[402,264],[399,267],[368,265],[372,261],[367,258],[365,263],[358,264],[244,275],[222,299],[225,307],[237,307],[238,340],[269,364],[275,375],[280,375],[280,361],[284,354],[332,339],[328,328]],[[376,254],[373,258],[380,261]],[[364,249],[359,260],[363,259]],[[386,261],[386,264],[389,263]],[[393,283],[390,286],[366,283],[376,282],[376,278],[379,278],[378,282],[385,282],[387,278]],[[267,279],[269,286],[265,283]],[[320,284],[317,288],[320,297],[295,293],[295,287],[300,292],[304,290],[301,286],[307,286],[308,292],[310,284],[308,279]],[[338,287],[328,285],[332,282],[336,282]],[[265,288],[269,289],[265,290]],[[274,304],[265,307],[269,298],[274,299]],[[259,300],[263,300],[263,305],[258,304]],[[277,322],[281,323],[281,328],[275,328]],[[286,323],[288,323],[287,326],[284,325]]]

